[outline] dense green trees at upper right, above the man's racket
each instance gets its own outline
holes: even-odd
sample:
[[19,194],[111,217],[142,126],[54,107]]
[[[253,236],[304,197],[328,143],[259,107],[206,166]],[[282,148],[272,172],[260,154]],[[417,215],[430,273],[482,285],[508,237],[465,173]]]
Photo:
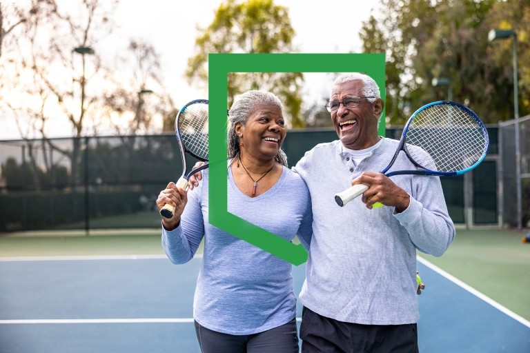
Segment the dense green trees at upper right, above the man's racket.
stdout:
[[[364,52],[386,53],[387,123],[402,125],[430,101],[466,103],[486,123],[513,119],[513,41],[488,41],[489,30],[518,33],[518,57],[530,54],[530,1],[382,0],[363,23]],[[530,65],[519,60],[520,116],[530,113]],[[526,97],[526,98],[525,98]],[[407,109],[408,108],[408,109]]]

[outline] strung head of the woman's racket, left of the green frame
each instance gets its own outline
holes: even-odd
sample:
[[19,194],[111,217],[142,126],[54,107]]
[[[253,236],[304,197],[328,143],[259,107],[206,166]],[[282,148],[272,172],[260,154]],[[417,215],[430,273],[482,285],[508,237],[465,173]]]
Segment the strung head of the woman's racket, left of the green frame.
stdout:
[[175,119],[175,134],[185,150],[199,161],[208,161],[208,100],[195,99],[184,105]]

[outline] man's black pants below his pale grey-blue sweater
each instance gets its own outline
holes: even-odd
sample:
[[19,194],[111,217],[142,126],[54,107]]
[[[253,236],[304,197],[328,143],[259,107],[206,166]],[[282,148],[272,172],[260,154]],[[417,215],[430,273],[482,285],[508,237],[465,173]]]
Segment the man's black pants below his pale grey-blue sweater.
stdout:
[[300,339],[303,353],[418,353],[415,323],[360,325],[344,323],[304,307]]

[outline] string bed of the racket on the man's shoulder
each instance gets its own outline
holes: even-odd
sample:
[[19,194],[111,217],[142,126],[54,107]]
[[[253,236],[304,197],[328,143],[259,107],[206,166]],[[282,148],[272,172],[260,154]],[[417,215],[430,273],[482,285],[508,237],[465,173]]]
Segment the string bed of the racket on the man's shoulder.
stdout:
[[433,105],[420,112],[406,132],[411,157],[420,165],[440,172],[464,170],[477,163],[487,147],[484,129],[467,112],[453,105]]

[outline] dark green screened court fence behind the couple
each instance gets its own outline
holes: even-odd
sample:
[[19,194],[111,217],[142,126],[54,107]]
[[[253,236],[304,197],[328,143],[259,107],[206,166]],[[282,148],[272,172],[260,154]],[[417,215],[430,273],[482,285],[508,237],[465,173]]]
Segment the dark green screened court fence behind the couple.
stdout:
[[[485,172],[442,178],[455,223],[499,225],[497,128],[489,130]],[[288,132],[289,165],[336,138],[330,129]],[[182,169],[174,134],[0,141],[0,165],[0,232],[158,228],[157,195]]]

